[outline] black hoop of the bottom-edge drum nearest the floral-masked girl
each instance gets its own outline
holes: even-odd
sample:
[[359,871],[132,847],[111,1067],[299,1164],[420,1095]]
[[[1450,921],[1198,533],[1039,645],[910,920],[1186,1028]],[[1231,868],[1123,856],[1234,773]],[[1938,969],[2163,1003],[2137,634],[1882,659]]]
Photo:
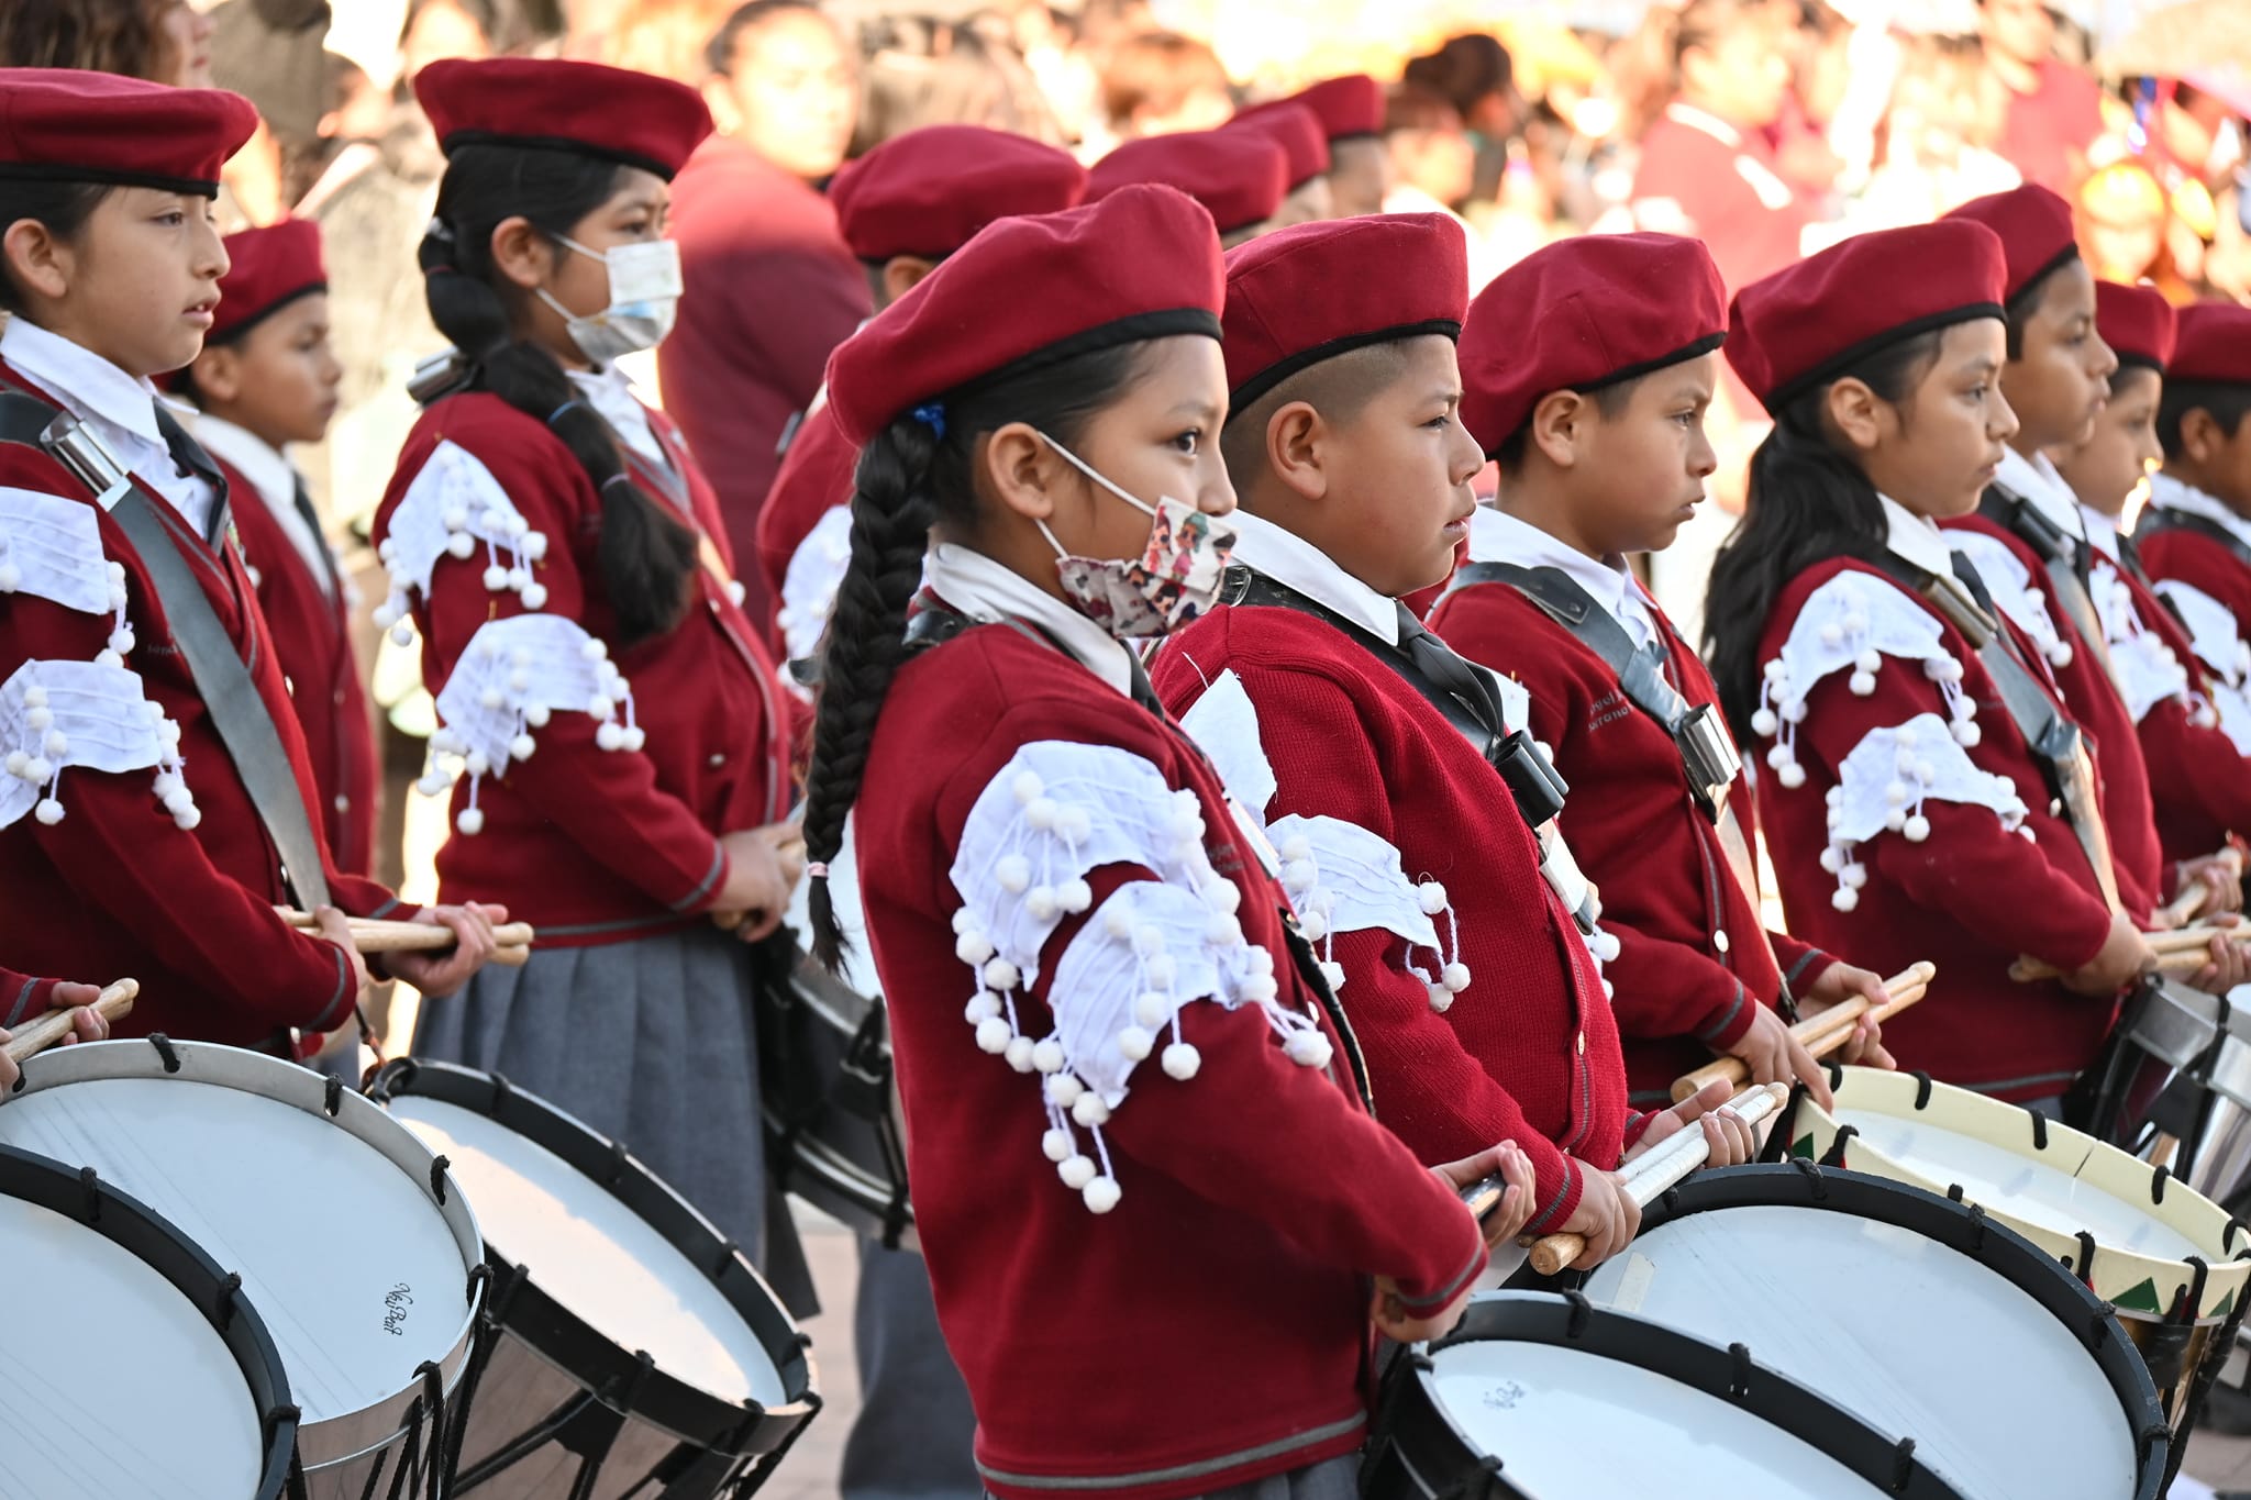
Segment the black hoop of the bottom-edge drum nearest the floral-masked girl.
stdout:
[[1916,1457],[1911,1437],[1884,1437],[1783,1372],[1760,1365],[1742,1345],[1720,1349],[1659,1322],[1598,1309],[1576,1291],[1481,1293],[1450,1336],[1427,1349],[1409,1352],[1391,1367],[1384,1381],[1384,1415],[1362,1469],[1362,1493],[1369,1500],[1438,1496],[1544,1500],[1510,1482],[1506,1455],[1481,1453],[1434,1390],[1432,1356],[1486,1340],[1569,1347],[1648,1370],[1758,1417],[1828,1455],[1880,1493],[1902,1500],[1963,1500]]

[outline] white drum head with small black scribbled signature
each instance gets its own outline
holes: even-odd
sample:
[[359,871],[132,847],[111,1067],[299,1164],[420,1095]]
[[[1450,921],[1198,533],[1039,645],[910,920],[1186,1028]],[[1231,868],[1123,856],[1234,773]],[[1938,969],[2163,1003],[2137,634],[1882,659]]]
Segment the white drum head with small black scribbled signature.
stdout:
[[[448,1358],[468,1331],[470,1262],[425,1185],[335,1120],[252,1091],[275,1079],[317,1100],[317,1075],[176,1046],[189,1070],[243,1086],[90,1075],[153,1073],[144,1041],[65,1048],[25,1066],[36,1086],[0,1104],[0,1142],[95,1167],[241,1273],[306,1428],[416,1390],[416,1365]],[[344,1104],[371,1113],[365,1129],[394,1129],[358,1095]]]

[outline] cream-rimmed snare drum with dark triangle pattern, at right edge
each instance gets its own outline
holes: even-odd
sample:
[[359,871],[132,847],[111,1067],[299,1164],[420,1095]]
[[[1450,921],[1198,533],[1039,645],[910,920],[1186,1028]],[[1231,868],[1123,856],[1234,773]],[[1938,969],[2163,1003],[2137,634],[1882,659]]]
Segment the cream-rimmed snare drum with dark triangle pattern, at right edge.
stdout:
[[2251,1284],[2251,1235],[2161,1167],[1920,1073],[1832,1068],[1837,1109],[1799,1093],[1796,1156],[1981,1203],[2118,1309],[2181,1442],[2197,1372]]

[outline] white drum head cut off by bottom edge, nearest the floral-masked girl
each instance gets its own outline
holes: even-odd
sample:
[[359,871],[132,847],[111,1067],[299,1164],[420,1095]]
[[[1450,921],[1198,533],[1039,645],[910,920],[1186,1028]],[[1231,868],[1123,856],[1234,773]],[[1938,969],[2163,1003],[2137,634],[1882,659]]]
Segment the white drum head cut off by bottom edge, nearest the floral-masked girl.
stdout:
[[1470,1446],[1535,1496],[1882,1496],[1738,1406],[1585,1349],[1479,1338],[1434,1354],[1429,1385]]

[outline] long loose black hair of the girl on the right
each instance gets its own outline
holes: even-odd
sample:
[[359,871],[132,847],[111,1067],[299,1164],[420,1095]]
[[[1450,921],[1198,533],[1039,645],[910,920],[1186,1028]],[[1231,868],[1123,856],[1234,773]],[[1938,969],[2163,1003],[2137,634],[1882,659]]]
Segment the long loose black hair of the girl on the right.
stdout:
[[1704,657],[1720,686],[1720,708],[1749,744],[1758,708],[1758,636],[1790,580],[1830,558],[1873,562],[1884,553],[1884,508],[1859,463],[1821,425],[1828,389],[1862,380],[1875,396],[1904,407],[1938,362],[1943,328],[1862,355],[1837,376],[1799,391],[1774,414],[1774,432],[1751,454],[1742,522],[1711,564],[1704,598]]

